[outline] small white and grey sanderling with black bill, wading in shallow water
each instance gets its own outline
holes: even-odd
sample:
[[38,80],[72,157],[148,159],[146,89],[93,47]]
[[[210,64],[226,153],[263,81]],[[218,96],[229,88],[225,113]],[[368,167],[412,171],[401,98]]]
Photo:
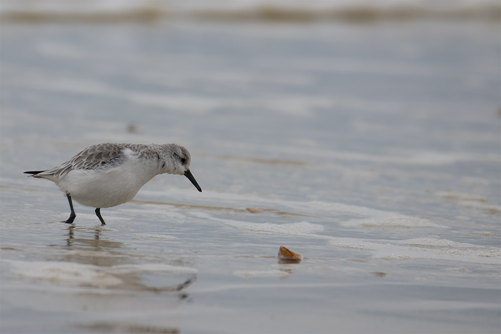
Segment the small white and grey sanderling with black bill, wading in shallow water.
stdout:
[[96,208],[101,225],[101,208],[126,203],[139,189],[158,174],[186,176],[202,191],[189,171],[188,150],[177,144],[111,144],[90,146],[70,161],[44,171],[30,171],[30,176],[51,180],[66,193],[71,214],[65,223],[75,220],[72,198]]

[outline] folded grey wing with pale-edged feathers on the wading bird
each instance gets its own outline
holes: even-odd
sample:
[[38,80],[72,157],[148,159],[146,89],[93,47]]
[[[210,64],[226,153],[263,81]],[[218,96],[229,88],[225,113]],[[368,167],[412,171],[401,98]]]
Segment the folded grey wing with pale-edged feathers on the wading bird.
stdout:
[[75,155],[70,161],[33,176],[54,175],[63,177],[71,170],[98,169],[106,165],[116,164],[121,160],[120,157],[126,146],[126,144],[112,143],[92,145]]

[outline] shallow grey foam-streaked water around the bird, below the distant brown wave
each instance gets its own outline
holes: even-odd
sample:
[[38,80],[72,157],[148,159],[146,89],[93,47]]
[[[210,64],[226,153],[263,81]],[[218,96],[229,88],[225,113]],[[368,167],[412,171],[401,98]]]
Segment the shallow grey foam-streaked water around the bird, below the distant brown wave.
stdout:
[[[498,23],[1,33],[2,332],[501,329]],[[181,144],[203,192],[60,223],[22,172],[100,142]]]

